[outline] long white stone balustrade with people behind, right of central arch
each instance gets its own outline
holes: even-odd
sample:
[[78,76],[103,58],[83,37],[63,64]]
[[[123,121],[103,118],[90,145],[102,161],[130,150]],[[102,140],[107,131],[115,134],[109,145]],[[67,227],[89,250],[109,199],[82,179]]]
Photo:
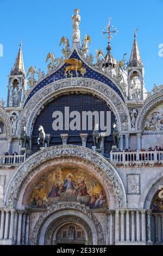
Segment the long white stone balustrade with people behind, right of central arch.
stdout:
[[135,152],[112,152],[110,153],[110,162],[115,164],[163,164],[163,151],[135,151]]

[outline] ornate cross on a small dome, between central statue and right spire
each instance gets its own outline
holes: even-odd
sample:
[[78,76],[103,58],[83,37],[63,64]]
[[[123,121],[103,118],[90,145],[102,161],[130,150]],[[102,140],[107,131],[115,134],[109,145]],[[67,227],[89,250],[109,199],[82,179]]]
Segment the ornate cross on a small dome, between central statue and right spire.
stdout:
[[111,29],[113,29],[114,26],[110,25],[110,21],[111,21],[111,18],[109,18],[108,26],[105,27],[107,29],[107,31],[104,32],[104,30],[103,30],[103,32],[102,32],[103,35],[108,34],[106,39],[109,39],[108,47],[106,48],[108,53],[106,54],[105,60],[103,61],[103,66],[105,66],[106,68],[108,68],[109,66],[112,66],[114,68],[114,66],[116,64],[116,60],[114,59],[114,57],[112,57],[110,52],[111,52],[111,39],[113,38],[112,33],[114,33],[116,35],[118,33],[118,31],[116,28],[111,31]]

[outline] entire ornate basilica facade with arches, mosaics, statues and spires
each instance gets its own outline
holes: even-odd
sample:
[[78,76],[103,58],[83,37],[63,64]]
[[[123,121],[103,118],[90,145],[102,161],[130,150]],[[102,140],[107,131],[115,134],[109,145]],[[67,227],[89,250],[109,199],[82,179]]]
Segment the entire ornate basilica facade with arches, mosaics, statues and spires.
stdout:
[[118,61],[110,19],[96,57],[71,19],[47,72],[20,44],[0,100],[0,245],[163,245],[163,86],[145,89],[136,29]]

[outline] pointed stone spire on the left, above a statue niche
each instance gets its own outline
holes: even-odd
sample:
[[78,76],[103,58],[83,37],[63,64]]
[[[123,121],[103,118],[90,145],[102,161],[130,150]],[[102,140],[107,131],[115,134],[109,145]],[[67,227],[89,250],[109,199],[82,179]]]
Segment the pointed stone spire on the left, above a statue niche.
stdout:
[[20,48],[17,53],[14,67],[11,70],[11,75],[25,75],[24,63],[23,63],[23,53],[22,53],[22,40],[20,42]]

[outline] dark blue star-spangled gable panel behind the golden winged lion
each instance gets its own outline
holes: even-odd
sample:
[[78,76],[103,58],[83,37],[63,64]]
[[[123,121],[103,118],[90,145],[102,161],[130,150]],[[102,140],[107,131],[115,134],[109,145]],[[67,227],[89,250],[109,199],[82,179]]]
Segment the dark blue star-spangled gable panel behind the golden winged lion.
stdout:
[[[75,58],[75,59],[80,59],[78,56],[78,53],[76,52],[76,50],[73,51],[71,58]],[[33,97],[33,95],[35,93],[37,93],[40,89],[42,89],[43,87],[47,86],[48,84],[54,82],[54,81],[59,81],[65,78],[65,67],[67,66],[67,64],[65,63],[58,71],[54,72],[52,75],[48,76],[47,78],[45,78],[45,80],[41,81],[39,84],[37,84],[37,86],[32,90],[32,92],[29,94],[29,96],[27,97],[26,103],[24,104],[24,106],[27,104],[27,102]],[[86,69],[86,74],[84,75],[85,78],[91,78],[93,80],[97,80],[99,82],[103,82],[106,85],[108,85],[111,89],[114,89],[114,91],[122,98],[123,100],[123,96],[120,92],[120,90],[115,86],[114,83],[112,83],[107,77],[105,77],[102,74],[99,74],[97,71],[92,70],[91,68],[89,68],[89,66],[87,66],[85,63],[83,63],[83,68]],[[76,72],[74,70],[71,70],[71,73],[73,74],[73,77],[76,77]],[[67,75],[67,78],[70,77],[70,75]],[[83,77],[82,74],[80,74],[78,77]]]

